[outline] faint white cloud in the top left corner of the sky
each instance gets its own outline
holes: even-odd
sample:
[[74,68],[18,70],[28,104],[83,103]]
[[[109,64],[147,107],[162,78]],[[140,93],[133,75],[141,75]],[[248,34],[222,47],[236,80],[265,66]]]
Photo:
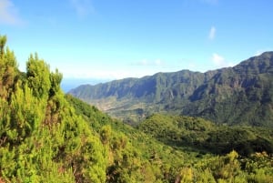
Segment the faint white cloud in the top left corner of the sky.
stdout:
[[17,9],[11,0],[0,0],[0,24],[20,25]]

